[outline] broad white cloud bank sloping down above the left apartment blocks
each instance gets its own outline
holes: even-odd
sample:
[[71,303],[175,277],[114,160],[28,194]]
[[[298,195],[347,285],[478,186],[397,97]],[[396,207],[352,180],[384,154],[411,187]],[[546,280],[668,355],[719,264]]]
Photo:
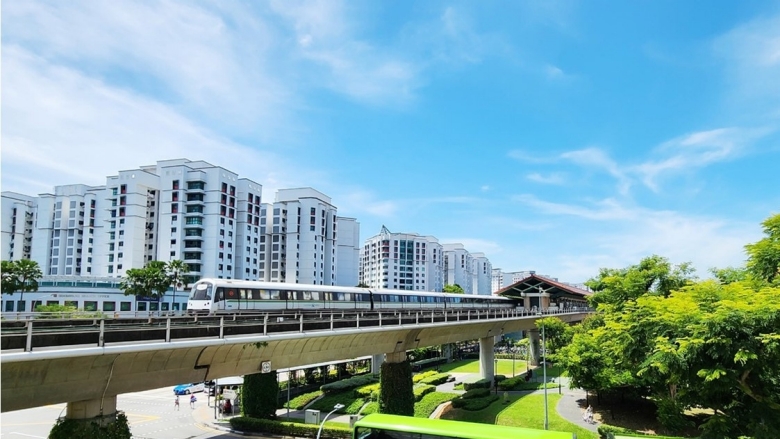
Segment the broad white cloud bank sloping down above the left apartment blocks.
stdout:
[[274,153],[231,142],[166,105],[17,47],[3,50],[3,89],[3,190],[29,193],[31,180],[43,191],[74,181],[101,185],[119,169],[176,157],[262,176],[266,199],[274,183],[290,186],[287,176],[301,174]]

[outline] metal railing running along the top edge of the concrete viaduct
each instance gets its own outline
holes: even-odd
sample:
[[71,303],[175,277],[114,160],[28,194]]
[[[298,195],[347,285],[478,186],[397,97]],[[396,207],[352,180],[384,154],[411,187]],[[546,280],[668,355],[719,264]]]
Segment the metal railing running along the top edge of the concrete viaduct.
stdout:
[[404,325],[458,324],[485,320],[540,318],[588,313],[588,308],[561,310],[433,309],[433,310],[324,310],[321,312],[258,313],[217,316],[144,316],[143,318],[30,319],[3,321],[3,351],[54,346],[121,344],[139,341],[171,342],[182,339],[338,331],[361,328],[398,328]]

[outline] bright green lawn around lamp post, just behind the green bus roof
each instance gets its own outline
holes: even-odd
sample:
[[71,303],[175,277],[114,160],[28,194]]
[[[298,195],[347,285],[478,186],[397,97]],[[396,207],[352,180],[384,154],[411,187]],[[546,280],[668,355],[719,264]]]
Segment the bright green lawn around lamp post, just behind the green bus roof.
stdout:
[[[559,399],[561,395],[547,395],[550,430],[577,433],[578,439],[598,439],[597,433],[578,427],[558,415],[555,407]],[[501,398],[487,408],[475,412],[452,409],[442,416],[442,419],[542,429],[544,428],[544,395],[510,396],[509,404],[506,405]]]

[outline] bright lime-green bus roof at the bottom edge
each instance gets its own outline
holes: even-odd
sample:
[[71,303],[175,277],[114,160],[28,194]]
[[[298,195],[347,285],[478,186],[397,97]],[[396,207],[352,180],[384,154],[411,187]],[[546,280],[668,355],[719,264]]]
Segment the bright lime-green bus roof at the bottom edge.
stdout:
[[355,428],[378,428],[410,433],[439,434],[461,439],[572,439],[574,433],[478,424],[443,419],[412,418],[409,416],[374,413],[355,422]]

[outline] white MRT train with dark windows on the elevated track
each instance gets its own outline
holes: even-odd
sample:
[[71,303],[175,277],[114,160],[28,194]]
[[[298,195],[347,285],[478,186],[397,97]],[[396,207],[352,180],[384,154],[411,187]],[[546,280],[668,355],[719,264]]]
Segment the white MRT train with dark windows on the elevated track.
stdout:
[[505,297],[327,285],[201,279],[187,302],[190,314],[321,309],[515,308]]

